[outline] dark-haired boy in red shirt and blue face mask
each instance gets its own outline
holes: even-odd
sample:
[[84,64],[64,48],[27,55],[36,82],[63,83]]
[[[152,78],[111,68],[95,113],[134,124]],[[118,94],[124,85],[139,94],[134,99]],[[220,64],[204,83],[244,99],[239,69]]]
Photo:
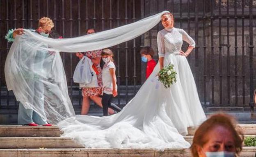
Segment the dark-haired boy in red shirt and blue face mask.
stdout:
[[150,76],[152,71],[155,68],[156,62],[153,59],[154,50],[150,46],[145,46],[140,50],[140,54],[142,55],[142,62],[146,62],[146,78]]

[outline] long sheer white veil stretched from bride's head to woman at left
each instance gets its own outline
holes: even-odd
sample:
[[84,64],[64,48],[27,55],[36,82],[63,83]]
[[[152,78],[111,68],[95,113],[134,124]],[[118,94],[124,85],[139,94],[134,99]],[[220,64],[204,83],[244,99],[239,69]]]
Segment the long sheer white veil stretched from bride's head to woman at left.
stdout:
[[[11,45],[5,62],[8,90],[25,108],[32,108],[52,124],[73,117],[66,75],[59,55],[103,49],[126,42],[152,29],[163,13],[152,15],[122,27],[80,36],[51,39],[25,29]],[[40,102],[44,103],[42,108]]]

